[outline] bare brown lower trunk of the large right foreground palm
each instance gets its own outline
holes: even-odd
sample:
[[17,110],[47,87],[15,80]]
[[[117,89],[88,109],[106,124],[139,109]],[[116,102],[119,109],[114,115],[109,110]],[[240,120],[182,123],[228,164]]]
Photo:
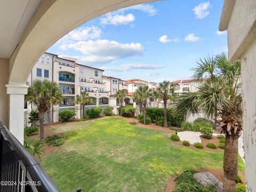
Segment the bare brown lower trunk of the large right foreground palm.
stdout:
[[238,137],[226,133],[223,159],[223,192],[236,192],[236,175],[238,169]]

